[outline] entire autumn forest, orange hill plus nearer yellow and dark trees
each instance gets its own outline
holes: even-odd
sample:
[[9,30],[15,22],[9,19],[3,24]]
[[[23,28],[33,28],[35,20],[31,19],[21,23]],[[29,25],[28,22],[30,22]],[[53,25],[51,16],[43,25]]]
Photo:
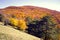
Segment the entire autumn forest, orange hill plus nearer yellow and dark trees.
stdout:
[[60,40],[60,12],[35,6],[0,9],[0,22],[44,40]]

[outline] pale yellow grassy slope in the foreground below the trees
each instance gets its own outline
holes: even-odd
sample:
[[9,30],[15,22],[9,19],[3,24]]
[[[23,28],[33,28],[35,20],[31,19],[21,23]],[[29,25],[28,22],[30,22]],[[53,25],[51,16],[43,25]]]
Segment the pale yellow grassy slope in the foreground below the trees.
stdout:
[[41,40],[35,36],[29,35],[22,31],[15,30],[9,26],[0,23],[0,40]]

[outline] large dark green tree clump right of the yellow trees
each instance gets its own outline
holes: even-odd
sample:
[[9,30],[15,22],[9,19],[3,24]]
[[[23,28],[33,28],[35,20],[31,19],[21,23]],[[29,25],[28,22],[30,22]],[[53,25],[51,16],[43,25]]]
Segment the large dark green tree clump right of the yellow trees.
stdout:
[[57,28],[56,23],[54,23],[50,18],[51,16],[45,16],[41,20],[32,21],[29,23],[28,33],[44,40],[57,40]]

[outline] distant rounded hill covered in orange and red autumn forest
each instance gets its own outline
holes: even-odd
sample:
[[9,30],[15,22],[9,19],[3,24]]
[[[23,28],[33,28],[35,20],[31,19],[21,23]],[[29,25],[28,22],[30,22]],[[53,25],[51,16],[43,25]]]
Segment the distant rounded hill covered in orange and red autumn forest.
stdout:
[[4,14],[7,18],[11,17],[11,15],[14,15],[17,19],[25,19],[26,17],[39,19],[49,14],[54,16],[58,22],[58,25],[60,25],[60,12],[47,8],[35,6],[9,6],[4,9],[0,9],[0,13]]

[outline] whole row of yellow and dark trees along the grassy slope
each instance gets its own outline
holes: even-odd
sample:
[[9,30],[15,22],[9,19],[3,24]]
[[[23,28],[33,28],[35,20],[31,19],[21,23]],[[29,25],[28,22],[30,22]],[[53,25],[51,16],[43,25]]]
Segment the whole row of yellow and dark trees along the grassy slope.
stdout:
[[46,15],[40,19],[26,17],[25,20],[18,20],[15,16],[7,19],[0,14],[0,21],[4,22],[4,25],[11,25],[13,28],[25,31],[44,40],[59,40],[59,29],[54,17],[51,15]]

